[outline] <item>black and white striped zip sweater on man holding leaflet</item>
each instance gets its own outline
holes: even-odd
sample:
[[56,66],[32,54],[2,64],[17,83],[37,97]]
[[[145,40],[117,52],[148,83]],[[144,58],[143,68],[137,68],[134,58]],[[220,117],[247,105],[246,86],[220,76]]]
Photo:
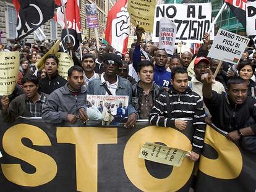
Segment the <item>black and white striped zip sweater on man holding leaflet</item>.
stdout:
[[[169,97],[169,109],[167,101]],[[171,88],[169,92],[160,94],[155,101],[149,120],[152,125],[161,127],[175,127],[175,120],[182,119],[192,122],[194,136],[192,139],[192,151],[201,153],[203,138],[205,136],[205,110],[203,99],[190,88],[185,93],[178,94]]]

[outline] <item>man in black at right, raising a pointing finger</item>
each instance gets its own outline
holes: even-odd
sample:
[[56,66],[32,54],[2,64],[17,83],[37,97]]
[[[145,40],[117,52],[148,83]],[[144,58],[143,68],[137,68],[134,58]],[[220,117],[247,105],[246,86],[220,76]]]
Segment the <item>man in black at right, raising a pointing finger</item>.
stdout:
[[250,137],[249,143],[245,137],[256,134],[256,99],[247,96],[247,81],[241,77],[231,78],[227,94],[218,94],[212,90],[215,80],[208,69],[202,75],[202,83],[203,101],[213,115],[214,125],[227,132],[228,140],[241,140],[245,149],[255,152],[256,137]]

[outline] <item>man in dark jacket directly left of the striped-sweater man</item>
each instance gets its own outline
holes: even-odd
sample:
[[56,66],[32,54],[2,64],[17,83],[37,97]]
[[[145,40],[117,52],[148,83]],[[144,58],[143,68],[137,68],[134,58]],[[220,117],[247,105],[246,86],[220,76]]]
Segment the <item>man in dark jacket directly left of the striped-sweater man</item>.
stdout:
[[132,105],[137,110],[139,119],[148,119],[155,100],[161,93],[160,87],[153,83],[153,67],[150,61],[140,61],[138,64],[140,81],[132,86]]

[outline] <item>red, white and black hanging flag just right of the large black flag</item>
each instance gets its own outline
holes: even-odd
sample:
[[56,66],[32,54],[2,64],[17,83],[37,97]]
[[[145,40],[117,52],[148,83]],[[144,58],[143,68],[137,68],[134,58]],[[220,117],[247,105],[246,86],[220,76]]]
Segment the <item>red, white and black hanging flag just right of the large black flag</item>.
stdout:
[[[64,0],[66,7],[66,17],[67,17],[67,28],[69,29],[69,38],[71,43],[74,46],[74,51],[79,48],[79,41],[82,41],[81,35],[81,18],[78,0]],[[54,19],[61,25],[61,51],[66,52],[66,43],[67,43],[67,30],[64,22],[64,10],[62,7],[59,7],[56,11]]]

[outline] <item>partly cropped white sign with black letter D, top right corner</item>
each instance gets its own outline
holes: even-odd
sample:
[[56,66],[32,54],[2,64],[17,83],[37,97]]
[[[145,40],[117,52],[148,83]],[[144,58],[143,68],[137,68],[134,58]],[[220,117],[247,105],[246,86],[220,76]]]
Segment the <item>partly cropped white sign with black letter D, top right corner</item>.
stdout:
[[246,4],[246,33],[256,35],[256,1]]

